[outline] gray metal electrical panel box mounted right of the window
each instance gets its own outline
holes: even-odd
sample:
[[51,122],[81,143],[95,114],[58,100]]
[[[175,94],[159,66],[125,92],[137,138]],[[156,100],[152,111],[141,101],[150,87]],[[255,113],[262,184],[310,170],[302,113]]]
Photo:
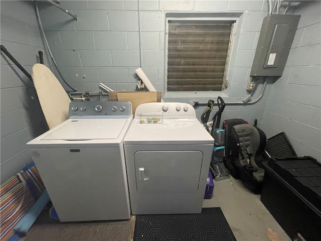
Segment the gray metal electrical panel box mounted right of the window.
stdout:
[[250,76],[282,76],[300,15],[263,19]]

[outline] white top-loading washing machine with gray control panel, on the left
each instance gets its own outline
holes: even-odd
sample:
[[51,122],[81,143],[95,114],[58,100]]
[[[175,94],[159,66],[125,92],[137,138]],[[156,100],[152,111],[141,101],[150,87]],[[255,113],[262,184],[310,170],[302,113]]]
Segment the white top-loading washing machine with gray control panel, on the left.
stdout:
[[130,218],[123,140],[130,102],[71,102],[70,118],[27,143],[60,221]]

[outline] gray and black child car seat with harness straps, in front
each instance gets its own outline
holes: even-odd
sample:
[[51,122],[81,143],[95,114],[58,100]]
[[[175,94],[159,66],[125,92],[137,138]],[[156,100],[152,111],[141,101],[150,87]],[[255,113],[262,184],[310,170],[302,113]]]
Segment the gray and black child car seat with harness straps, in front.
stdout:
[[227,162],[235,168],[233,177],[242,179],[254,193],[261,191],[264,169],[257,165],[256,159],[264,151],[265,143],[264,132],[252,125],[240,124],[231,129],[231,156]]

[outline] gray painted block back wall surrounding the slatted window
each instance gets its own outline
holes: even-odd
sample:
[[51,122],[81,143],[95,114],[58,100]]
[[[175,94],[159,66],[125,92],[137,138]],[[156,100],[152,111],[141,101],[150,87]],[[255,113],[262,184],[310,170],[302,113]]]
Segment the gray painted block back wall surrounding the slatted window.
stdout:
[[[268,14],[267,1],[61,1],[60,6],[72,11],[78,20],[48,5],[41,7],[41,19],[57,64],[79,91],[101,91],[99,82],[117,91],[134,91],[138,80],[134,70],[141,67],[156,90],[164,93],[166,13],[241,13],[228,72],[229,86],[223,96],[230,102],[249,94],[245,88],[261,23]],[[254,122],[257,118],[260,122],[269,88],[257,104],[227,106],[222,119],[242,117]],[[215,96],[164,99],[206,103],[209,98],[216,100]],[[196,107],[198,117],[203,110],[204,106]]]

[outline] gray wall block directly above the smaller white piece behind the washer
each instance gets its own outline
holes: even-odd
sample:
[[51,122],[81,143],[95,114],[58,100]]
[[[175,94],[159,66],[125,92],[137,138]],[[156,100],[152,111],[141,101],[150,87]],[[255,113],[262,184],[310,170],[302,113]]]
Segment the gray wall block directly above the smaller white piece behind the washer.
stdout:
[[[99,68],[99,79],[102,83],[124,83],[128,82],[127,68]],[[109,85],[107,84],[109,87]]]

